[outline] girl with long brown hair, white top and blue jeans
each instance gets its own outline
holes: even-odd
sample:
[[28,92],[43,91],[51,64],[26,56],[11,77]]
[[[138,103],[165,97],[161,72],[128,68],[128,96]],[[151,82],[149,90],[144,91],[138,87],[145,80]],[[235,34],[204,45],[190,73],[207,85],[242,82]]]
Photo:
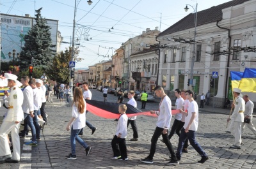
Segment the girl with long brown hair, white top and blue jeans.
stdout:
[[[66,159],[76,159],[76,141],[79,142],[86,151],[86,156],[90,154],[92,147],[88,146],[84,140],[82,140],[78,133],[85,127],[86,121],[86,102],[83,98],[83,92],[80,87],[76,87],[74,90],[74,102],[72,103],[72,118],[67,124],[67,131],[70,130],[70,144],[71,153],[65,156]],[[71,127],[71,129],[70,129]]]

